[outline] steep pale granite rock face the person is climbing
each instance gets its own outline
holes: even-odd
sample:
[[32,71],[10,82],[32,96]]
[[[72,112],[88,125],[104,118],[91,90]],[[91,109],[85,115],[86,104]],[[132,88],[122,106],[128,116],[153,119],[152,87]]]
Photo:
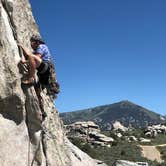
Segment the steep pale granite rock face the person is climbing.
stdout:
[[[0,165],[80,166],[98,165],[66,141],[62,122],[52,99],[42,92],[47,117],[41,110],[34,87],[22,87],[24,70],[17,43],[31,50],[29,38],[39,33],[28,0],[0,0]],[[86,164],[85,164],[86,163]]]

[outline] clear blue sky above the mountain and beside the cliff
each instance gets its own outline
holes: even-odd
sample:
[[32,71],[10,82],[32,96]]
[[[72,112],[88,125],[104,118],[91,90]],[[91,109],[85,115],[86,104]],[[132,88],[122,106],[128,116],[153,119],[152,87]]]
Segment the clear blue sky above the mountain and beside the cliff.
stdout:
[[166,114],[165,0],[30,0],[56,61],[59,112],[129,100]]

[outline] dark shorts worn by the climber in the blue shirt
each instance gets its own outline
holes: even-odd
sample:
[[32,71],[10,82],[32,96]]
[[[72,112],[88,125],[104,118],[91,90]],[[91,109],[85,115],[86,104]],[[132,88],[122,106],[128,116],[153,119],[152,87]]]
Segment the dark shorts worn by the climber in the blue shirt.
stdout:
[[41,85],[49,84],[49,75],[50,75],[50,67],[49,63],[42,62],[40,66],[37,68],[37,75],[39,77],[39,83]]

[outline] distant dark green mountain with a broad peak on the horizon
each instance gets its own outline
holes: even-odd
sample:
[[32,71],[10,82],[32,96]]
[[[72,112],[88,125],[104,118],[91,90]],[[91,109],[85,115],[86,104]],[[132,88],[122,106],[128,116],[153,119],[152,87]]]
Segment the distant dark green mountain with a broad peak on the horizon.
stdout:
[[101,129],[108,129],[113,122],[120,121],[125,126],[145,127],[165,122],[165,117],[129,101],[103,105],[85,110],[61,113],[65,124],[91,120]]

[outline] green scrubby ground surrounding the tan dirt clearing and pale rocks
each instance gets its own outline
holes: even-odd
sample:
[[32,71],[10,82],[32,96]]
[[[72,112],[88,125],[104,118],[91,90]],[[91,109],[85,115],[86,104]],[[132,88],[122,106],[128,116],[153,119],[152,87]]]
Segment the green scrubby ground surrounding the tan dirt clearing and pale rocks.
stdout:
[[[166,166],[166,147],[158,147],[160,153],[162,154],[162,158],[165,163],[159,164],[155,161],[149,161],[146,158],[141,156],[141,149],[138,144],[140,142],[127,142],[125,137],[117,138],[114,132],[105,131],[103,134],[112,137],[116,140],[111,145],[111,148],[108,147],[99,147],[99,146],[92,146],[83,140],[80,139],[72,139],[72,142],[78,146],[81,150],[89,154],[92,158],[102,160],[108,166],[111,166],[116,160],[129,160],[129,161],[145,161],[148,162],[150,166]],[[135,136],[136,138],[145,137],[144,132],[142,129],[134,129],[128,132],[123,133],[123,136]],[[166,144],[166,135],[159,134],[155,138],[151,138],[151,143],[142,143],[144,145],[160,145]]]

